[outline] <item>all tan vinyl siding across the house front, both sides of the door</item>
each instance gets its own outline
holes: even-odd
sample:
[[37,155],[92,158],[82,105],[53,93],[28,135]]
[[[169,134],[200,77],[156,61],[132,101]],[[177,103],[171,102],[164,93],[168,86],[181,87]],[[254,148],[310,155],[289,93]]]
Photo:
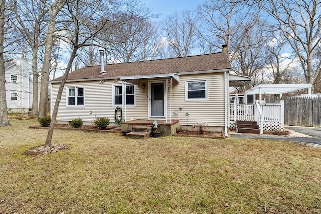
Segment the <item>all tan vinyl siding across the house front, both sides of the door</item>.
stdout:
[[[208,100],[186,101],[185,80],[208,80]],[[168,80],[170,81],[170,80]],[[112,84],[121,83],[114,80],[105,80],[104,83],[97,81],[66,83],[62,94],[57,120],[70,121],[80,117],[85,122],[92,122],[96,117],[108,117],[114,122],[115,106],[112,106]],[[142,84],[145,83],[145,89]],[[85,106],[66,106],[66,90],[68,87],[84,87]],[[52,84],[52,106],[57,96],[59,84]],[[172,87],[172,111],[170,111],[170,90],[167,91],[167,118],[180,120],[181,125],[206,124],[208,126],[224,127],[224,72],[211,74],[181,75],[180,83],[173,81]],[[136,86],[136,106],[123,108],[124,118],[148,119],[148,81],[140,80]],[[180,110],[179,107],[183,109]],[[178,112],[176,117],[174,111]],[[92,112],[90,114],[90,112]],[[126,112],[126,115],[125,115]],[[189,116],[185,116],[188,113]]]

